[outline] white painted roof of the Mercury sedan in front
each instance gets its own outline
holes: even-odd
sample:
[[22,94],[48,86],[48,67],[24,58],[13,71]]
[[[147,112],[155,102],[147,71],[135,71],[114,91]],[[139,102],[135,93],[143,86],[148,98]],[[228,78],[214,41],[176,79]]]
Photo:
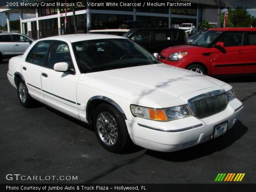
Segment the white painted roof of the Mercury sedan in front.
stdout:
[[40,40],[68,40],[70,42],[94,40],[94,39],[127,39],[122,36],[116,35],[105,35],[105,34],[70,34],[70,35],[59,35],[46,37]]

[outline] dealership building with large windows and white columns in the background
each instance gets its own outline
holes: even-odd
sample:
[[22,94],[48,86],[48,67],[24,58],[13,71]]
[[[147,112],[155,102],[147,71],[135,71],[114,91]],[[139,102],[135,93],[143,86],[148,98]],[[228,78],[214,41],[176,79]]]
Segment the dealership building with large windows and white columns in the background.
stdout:
[[[151,26],[168,28],[173,28],[181,23],[193,23],[198,31],[202,20],[207,20],[210,24],[218,26],[220,8],[226,6],[220,0],[176,0],[175,2],[191,3],[191,6],[180,6],[178,8],[132,6],[132,3],[143,4],[144,1],[142,0],[109,1],[117,3],[118,6],[88,6],[88,3],[94,3],[95,5],[102,2],[106,3],[108,0],[23,0],[21,2],[39,3],[39,6],[17,7],[9,4],[8,7],[1,7],[0,12],[6,13],[8,32],[10,32],[10,13],[19,13],[20,32],[35,39],[74,33],[74,20],[79,33],[86,33],[91,29],[118,28],[118,25],[116,25],[118,23],[136,20],[144,21]],[[128,6],[121,6],[120,2],[127,3]],[[157,2],[167,4],[167,2],[173,1],[160,0]],[[64,6],[67,4],[72,4],[72,6]],[[66,9],[68,19],[65,31]],[[34,17],[23,19],[24,14],[33,14]]]

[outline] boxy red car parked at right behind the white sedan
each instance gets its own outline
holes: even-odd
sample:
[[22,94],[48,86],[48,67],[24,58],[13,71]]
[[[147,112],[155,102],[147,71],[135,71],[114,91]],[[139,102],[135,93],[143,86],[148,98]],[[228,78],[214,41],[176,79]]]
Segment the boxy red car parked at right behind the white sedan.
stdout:
[[256,28],[210,29],[190,45],[162,50],[158,60],[201,74],[256,73]]

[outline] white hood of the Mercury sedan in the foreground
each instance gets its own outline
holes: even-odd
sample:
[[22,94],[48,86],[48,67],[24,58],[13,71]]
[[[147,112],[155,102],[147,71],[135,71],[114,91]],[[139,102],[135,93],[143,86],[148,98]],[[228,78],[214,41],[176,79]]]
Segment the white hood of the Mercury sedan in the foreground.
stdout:
[[[147,106],[226,83],[166,64],[153,64],[82,74],[82,83]],[[155,105],[154,105],[155,104]],[[159,107],[159,106],[156,106]]]

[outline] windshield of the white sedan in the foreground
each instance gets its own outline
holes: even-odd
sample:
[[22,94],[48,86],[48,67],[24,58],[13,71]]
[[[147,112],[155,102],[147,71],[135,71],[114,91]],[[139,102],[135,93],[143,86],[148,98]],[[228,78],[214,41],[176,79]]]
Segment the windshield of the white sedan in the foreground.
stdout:
[[149,52],[128,39],[98,39],[72,43],[81,73],[158,64]]

